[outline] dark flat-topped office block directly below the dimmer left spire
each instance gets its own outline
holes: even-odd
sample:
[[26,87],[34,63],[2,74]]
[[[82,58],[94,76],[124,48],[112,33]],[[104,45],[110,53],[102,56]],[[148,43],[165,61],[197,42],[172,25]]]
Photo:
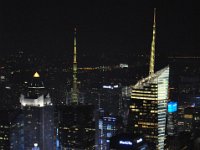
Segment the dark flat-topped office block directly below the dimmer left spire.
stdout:
[[56,107],[58,147],[60,149],[93,149],[95,122],[93,105],[60,105]]

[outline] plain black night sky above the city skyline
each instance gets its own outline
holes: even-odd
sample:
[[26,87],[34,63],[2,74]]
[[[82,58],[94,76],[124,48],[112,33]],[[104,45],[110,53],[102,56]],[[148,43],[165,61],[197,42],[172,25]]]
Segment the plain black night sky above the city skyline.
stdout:
[[153,8],[157,8],[156,52],[200,55],[199,19],[187,1],[1,2],[0,55],[23,49],[42,55],[149,53]]

